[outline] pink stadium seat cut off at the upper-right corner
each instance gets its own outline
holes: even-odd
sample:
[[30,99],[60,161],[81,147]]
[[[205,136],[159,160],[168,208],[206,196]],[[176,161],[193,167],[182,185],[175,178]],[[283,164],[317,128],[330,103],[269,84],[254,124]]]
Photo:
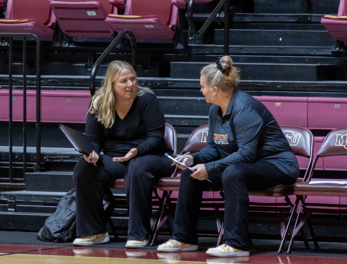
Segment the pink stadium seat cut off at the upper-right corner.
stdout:
[[340,0],[337,16],[324,16],[321,23],[331,37],[337,41],[347,41],[347,0]]

